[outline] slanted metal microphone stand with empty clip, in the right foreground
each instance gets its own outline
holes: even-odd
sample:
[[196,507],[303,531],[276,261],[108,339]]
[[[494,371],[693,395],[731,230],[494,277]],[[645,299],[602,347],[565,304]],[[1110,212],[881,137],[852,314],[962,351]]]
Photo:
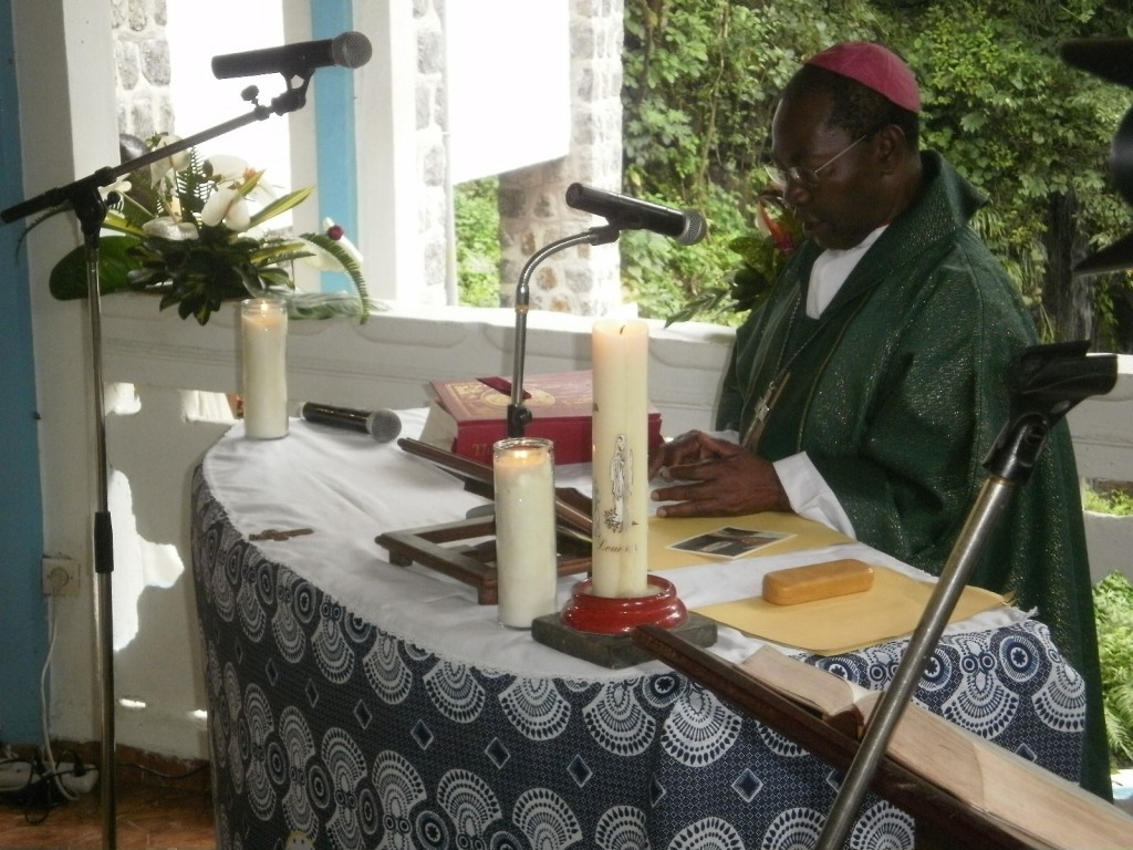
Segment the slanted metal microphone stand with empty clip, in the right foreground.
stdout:
[[870,716],[861,747],[842,782],[816,850],[838,850],[845,841],[889,738],[920,682],[968,577],[1015,486],[1030,478],[1050,428],[1077,402],[1114,388],[1117,357],[1087,356],[1088,347],[1087,341],[1033,346],[1007,365],[1005,382],[1011,396],[1011,417],[983,461],[988,479],[972,505],[893,680]]

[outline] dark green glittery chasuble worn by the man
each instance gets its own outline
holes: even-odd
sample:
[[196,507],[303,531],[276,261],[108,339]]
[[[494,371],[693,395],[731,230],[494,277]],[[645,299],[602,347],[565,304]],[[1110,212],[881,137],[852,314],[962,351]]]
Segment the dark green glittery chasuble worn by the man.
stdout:
[[[807,452],[857,537],[939,575],[1007,423],[1004,368],[1037,345],[1034,323],[969,219],[982,203],[939,155],[925,187],[881,233],[823,315],[806,314],[804,244],[768,300],[736,332],[717,427],[748,434],[772,397],[756,449]],[[750,444],[750,443],[749,443]],[[1082,784],[1109,798],[1077,470],[1066,423],[1015,490],[971,584],[1036,609],[1081,672],[1088,700]]]

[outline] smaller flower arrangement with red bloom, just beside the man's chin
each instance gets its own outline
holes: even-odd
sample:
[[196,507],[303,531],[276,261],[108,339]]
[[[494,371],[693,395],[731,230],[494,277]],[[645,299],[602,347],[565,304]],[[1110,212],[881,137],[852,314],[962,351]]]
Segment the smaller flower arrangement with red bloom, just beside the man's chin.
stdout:
[[801,228],[783,202],[782,187],[769,185],[756,199],[757,232],[740,236],[729,248],[740,255],[740,264],[722,284],[708,287],[671,315],[665,325],[712,316],[730,309],[746,313],[758,307],[801,243]]

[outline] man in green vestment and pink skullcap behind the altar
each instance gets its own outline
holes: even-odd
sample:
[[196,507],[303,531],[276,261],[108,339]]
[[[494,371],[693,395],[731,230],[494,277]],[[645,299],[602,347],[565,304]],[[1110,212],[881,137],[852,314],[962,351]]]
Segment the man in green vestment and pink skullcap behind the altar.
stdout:
[[[908,66],[870,43],[812,57],[772,154],[807,241],[738,330],[717,415],[650,459],[663,517],[794,511],[939,575],[1008,420],[1004,368],[1038,342],[968,222],[983,203],[919,148]],[[1014,493],[971,583],[1037,611],[1085,683],[1082,784],[1109,798],[1077,471],[1066,424]]]

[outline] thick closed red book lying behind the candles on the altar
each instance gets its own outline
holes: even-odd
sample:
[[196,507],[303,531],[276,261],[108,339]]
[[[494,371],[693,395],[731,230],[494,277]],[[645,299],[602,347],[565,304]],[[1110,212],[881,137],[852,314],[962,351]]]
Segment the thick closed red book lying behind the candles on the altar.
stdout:
[[[454,454],[492,462],[492,445],[508,436],[511,381],[470,377],[431,381],[433,394],[421,442]],[[523,407],[531,420],[525,436],[553,440],[555,464],[588,464],[593,451],[593,373],[557,372],[523,379]],[[649,449],[661,444],[661,414],[649,411]]]

